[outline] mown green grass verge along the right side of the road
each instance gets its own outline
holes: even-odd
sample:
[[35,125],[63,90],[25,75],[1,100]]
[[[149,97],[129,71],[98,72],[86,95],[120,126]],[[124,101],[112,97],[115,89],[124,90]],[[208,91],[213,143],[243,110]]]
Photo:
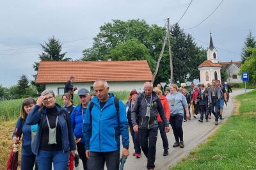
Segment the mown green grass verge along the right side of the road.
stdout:
[[171,169],[256,169],[256,91],[236,99],[239,113]]

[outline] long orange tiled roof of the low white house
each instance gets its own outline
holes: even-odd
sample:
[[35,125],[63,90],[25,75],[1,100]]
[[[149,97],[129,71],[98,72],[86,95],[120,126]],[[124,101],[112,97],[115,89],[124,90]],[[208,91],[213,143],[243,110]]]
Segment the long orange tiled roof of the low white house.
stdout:
[[146,60],[140,61],[40,61],[36,83],[151,81],[152,73]]

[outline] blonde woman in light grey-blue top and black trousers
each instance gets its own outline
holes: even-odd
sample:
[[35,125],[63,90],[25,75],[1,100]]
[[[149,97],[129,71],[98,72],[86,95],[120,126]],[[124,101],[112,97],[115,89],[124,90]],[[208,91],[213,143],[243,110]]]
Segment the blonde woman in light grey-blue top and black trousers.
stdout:
[[184,148],[183,141],[183,130],[182,130],[182,122],[184,117],[184,109],[186,111],[186,116],[189,118],[188,112],[188,103],[186,97],[178,91],[178,86],[176,84],[171,84],[170,93],[166,95],[170,105],[170,124],[173,129],[173,134],[175,137],[175,143],[173,147],[180,146],[180,148]]

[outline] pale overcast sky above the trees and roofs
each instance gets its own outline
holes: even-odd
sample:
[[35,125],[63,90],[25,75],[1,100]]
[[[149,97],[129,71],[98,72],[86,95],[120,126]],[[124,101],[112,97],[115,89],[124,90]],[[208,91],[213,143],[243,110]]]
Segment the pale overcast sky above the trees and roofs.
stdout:
[[[104,23],[112,19],[143,19],[150,25],[164,26],[169,17],[174,24],[190,2],[180,27],[204,48],[209,47],[212,33],[218,59],[240,61],[249,30],[256,35],[256,1],[221,1],[0,0],[0,84],[13,86],[23,74],[29,81],[33,80],[32,75],[36,73],[33,63],[39,61],[38,54],[42,52],[40,43],[44,44],[52,36],[63,43],[66,57],[79,59],[84,49],[92,47],[93,37]],[[191,27],[195,28],[188,29]]]

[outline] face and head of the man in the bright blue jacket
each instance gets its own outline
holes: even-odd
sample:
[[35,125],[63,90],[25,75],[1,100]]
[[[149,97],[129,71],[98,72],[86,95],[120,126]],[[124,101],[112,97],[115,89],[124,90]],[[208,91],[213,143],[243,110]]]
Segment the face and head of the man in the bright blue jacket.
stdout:
[[106,102],[108,100],[109,87],[108,88],[104,87],[104,82],[97,82],[93,88],[94,88],[94,92],[95,92],[97,98],[99,98],[100,102]]

